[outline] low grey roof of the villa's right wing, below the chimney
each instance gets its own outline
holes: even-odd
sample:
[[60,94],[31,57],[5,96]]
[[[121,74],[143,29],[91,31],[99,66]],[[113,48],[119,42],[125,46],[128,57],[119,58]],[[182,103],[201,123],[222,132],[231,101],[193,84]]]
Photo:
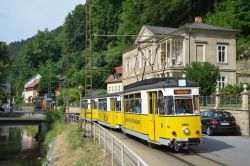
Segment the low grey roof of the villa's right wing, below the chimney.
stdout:
[[203,29],[203,30],[215,30],[215,31],[228,31],[228,32],[237,32],[237,30],[204,24],[204,23],[192,23],[186,24],[181,28],[192,28],[192,29]]

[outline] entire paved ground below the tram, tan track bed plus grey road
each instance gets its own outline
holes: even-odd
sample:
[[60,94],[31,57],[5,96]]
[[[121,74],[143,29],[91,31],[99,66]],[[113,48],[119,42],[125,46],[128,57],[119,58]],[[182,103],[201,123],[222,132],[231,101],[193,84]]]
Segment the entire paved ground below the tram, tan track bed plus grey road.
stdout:
[[241,136],[203,136],[204,144],[189,151],[174,152],[166,147],[150,148],[140,139],[110,131],[150,166],[249,166],[250,138]]

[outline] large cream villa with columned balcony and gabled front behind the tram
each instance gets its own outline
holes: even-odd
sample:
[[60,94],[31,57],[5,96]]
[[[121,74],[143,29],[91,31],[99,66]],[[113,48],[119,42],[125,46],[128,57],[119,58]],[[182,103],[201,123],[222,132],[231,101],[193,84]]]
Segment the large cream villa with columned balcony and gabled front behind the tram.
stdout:
[[134,45],[123,52],[123,84],[154,78],[183,77],[193,61],[218,66],[218,85],[236,83],[236,30],[202,23],[178,29],[144,25]]

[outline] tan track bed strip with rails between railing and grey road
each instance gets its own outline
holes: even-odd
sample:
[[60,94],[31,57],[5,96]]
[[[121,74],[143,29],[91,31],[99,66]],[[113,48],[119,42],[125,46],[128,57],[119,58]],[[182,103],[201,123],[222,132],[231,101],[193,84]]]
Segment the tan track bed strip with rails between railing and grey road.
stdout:
[[[110,130],[109,130],[110,131]],[[150,148],[140,139],[126,136],[121,132],[110,131],[115,137],[125,143],[150,166],[217,166],[223,165],[192,151],[175,153],[166,147]],[[196,149],[196,148],[195,148]]]

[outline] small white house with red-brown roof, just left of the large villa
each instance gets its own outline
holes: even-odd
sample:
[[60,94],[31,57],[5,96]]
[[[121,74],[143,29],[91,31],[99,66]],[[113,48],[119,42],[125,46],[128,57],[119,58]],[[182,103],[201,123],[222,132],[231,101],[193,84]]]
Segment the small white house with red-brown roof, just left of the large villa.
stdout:
[[106,80],[107,93],[114,93],[123,91],[122,84],[122,66],[115,67],[114,71],[109,75]]

